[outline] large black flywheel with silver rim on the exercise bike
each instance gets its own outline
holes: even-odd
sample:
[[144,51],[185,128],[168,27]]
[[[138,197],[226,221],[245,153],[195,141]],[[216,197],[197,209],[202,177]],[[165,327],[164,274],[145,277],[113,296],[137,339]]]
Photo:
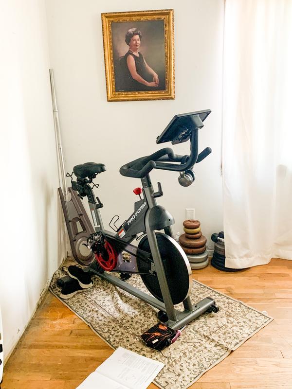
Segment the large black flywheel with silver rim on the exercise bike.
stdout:
[[[183,249],[173,238],[161,232],[155,234],[172,302],[179,304],[190,294],[192,269]],[[138,248],[150,252],[147,236],[141,239]],[[147,264],[138,256],[137,265],[139,271],[145,271]],[[148,268],[149,265],[147,265]],[[141,278],[149,292],[159,301],[163,301],[157,274],[141,274]]]

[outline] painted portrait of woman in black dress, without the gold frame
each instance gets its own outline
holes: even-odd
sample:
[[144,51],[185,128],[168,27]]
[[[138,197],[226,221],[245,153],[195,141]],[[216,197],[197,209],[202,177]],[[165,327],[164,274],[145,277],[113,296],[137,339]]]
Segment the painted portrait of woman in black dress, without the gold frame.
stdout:
[[115,91],[165,89],[163,20],[112,23]]

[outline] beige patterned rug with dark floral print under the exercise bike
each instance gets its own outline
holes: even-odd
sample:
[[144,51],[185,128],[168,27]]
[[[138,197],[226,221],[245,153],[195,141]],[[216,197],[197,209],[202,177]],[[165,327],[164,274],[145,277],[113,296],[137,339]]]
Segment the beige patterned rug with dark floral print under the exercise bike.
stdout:
[[[62,300],[56,280],[64,275],[66,268],[56,271],[50,285],[51,292],[113,349],[121,346],[163,362],[164,369],[154,381],[162,389],[188,388],[273,320],[240,301],[193,281],[191,300],[214,298],[219,312],[205,313],[193,320],[173,345],[159,353],[147,348],[140,339],[144,331],[158,322],[157,309],[99,277],[93,277],[91,289]],[[139,276],[132,276],[127,282],[148,293]]]

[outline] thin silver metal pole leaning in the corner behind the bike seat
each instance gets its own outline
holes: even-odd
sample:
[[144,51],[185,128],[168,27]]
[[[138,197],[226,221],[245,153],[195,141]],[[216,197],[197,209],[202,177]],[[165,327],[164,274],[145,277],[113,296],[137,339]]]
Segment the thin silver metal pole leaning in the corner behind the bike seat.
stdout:
[[62,150],[62,142],[61,142],[61,133],[60,133],[56,94],[55,94],[55,83],[54,83],[54,71],[53,71],[53,69],[50,69],[50,81],[51,81],[51,94],[52,94],[52,103],[53,103],[55,135],[56,135],[56,142],[57,142],[57,147],[58,147],[58,157],[59,157],[59,164],[60,164],[60,176],[61,177],[59,177],[59,181],[60,181],[60,186],[63,188],[65,199],[67,199],[68,198],[68,190],[67,190],[67,185],[66,185],[66,173],[65,173],[65,165],[64,165],[63,150]]

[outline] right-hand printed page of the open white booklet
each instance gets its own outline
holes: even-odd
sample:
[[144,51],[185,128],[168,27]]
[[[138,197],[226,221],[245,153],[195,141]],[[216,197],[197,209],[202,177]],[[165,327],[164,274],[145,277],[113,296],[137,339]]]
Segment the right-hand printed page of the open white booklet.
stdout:
[[119,347],[96,371],[128,389],[146,389],[163,367],[162,362]]

